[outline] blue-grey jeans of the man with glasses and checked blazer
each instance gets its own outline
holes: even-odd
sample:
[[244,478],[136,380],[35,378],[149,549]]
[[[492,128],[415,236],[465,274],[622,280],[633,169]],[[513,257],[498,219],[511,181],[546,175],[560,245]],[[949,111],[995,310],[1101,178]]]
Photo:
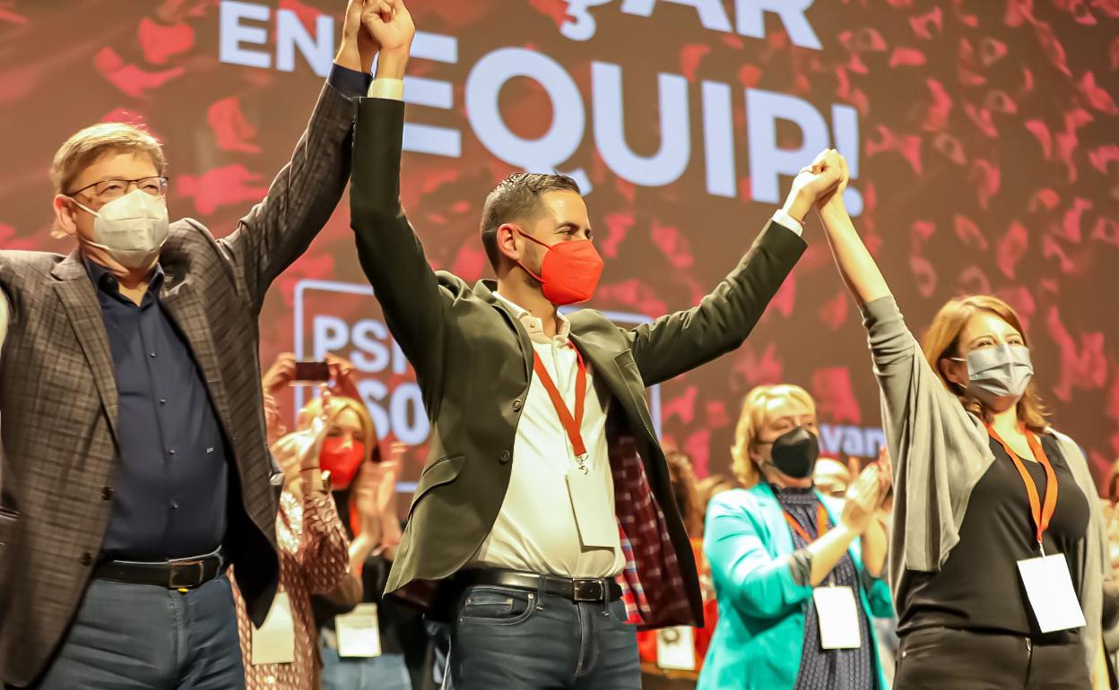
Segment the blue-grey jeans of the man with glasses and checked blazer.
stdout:
[[226,576],[186,593],[95,579],[35,690],[243,690]]

